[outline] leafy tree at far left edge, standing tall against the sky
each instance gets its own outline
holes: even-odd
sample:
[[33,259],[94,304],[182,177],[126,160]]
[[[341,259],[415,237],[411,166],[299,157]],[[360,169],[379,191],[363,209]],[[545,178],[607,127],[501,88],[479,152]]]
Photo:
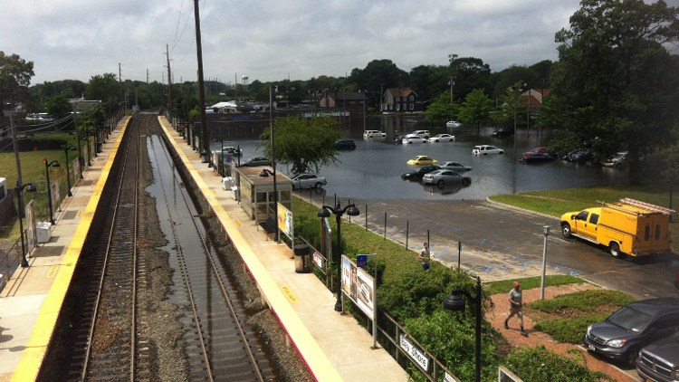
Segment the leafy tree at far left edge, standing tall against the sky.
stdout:
[[7,103],[24,103],[34,75],[32,61],[26,62],[18,54],[8,56],[0,51],[0,109],[5,109]]

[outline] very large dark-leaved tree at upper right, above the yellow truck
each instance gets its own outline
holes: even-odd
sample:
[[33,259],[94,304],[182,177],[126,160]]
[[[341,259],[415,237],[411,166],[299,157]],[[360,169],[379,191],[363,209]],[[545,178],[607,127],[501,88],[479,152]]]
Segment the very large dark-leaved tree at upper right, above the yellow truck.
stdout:
[[630,153],[629,183],[640,183],[638,153],[665,142],[679,118],[679,59],[663,43],[679,39],[679,11],[664,1],[583,0],[570,29],[556,34],[552,90],[574,141],[603,155]]

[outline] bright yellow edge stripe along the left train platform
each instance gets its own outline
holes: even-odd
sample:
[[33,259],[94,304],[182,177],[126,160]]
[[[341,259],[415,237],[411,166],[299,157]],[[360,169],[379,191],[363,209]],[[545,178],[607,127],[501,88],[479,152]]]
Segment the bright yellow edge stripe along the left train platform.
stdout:
[[38,373],[43,364],[44,355],[47,352],[53,337],[56,321],[59,318],[59,312],[62,310],[63,300],[66,297],[66,292],[72,282],[75,264],[78,263],[82,245],[85,243],[87,233],[90,231],[94,211],[97,209],[97,205],[99,205],[101,190],[109,177],[110,167],[113,166],[113,160],[116,158],[116,153],[120,146],[120,138],[128,127],[129,119],[129,116],[123,117],[121,122],[117,125],[117,129],[114,130],[114,132],[118,133],[118,136],[113,141],[113,148],[110,151],[106,165],[101,170],[99,181],[94,187],[94,192],[90,197],[89,203],[85,207],[85,212],[82,214],[81,221],[76,228],[75,234],[73,234],[71,244],[69,244],[69,247],[63,256],[59,272],[56,274],[50,291],[48,291],[47,296],[45,296],[43,305],[40,308],[40,313],[38,313],[38,318],[35,320],[31,336],[28,338],[26,348],[21,355],[21,359],[19,359],[19,364],[14,369],[14,374],[11,379],[13,382],[35,381],[38,377]]

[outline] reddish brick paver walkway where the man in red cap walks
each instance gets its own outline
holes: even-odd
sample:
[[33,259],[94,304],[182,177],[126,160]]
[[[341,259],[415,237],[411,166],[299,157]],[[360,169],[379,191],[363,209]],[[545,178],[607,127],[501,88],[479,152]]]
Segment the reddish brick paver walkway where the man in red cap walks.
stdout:
[[[559,287],[547,287],[545,288],[545,299],[551,299],[554,296],[564,293],[570,293],[573,291],[585,291],[588,289],[597,289],[598,287],[591,284],[570,284],[563,285]],[[549,335],[542,333],[536,329],[533,329],[533,323],[531,319],[523,316],[523,327],[528,333],[528,337],[521,336],[521,329],[519,328],[519,322],[515,317],[509,322],[510,329],[504,329],[503,322],[507,317],[507,310],[509,310],[509,302],[507,301],[507,293],[495,294],[492,296],[494,309],[489,312],[486,317],[487,320],[491,322],[493,327],[498,331],[502,332],[504,337],[509,341],[509,343],[514,347],[536,347],[539,345],[544,345],[547,349],[556,351],[559,354],[566,354],[568,349],[579,349],[586,354],[588,368],[592,370],[602,371],[608,376],[613,377],[618,382],[636,382],[640,379],[636,377],[636,370],[632,369],[626,374],[619,368],[607,363],[606,361],[600,360],[593,357],[585,349],[581,347],[562,344],[556,342],[550,338]],[[530,302],[540,299],[540,289],[531,289],[523,291],[523,301]],[[631,376],[634,377],[631,377]]]

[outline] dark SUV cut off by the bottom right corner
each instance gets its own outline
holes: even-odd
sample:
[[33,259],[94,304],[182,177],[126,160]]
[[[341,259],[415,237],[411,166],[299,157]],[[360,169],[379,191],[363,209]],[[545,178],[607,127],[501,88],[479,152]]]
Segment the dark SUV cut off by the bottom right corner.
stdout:
[[641,349],[636,372],[645,381],[679,382],[679,332]]

